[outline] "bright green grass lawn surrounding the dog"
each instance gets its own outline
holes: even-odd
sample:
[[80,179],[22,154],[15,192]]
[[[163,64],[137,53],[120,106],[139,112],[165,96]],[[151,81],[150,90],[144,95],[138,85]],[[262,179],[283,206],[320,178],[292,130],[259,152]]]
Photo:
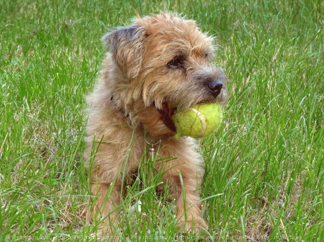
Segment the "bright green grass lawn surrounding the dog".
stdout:
[[[207,241],[324,240],[322,0],[0,2],[0,241],[94,241],[84,96],[100,38],[136,13],[177,11],[216,34],[227,122],[202,141]],[[181,241],[150,164],[126,186],[121,241]],[[130,213],[140,200],[141,212]],[[119,228],[119,229],[120,229]],[[164,236],[164,237],[163,237]],[[189,235],[190,236],[190,235]],[[197,241],[198,238],[187,238]]]

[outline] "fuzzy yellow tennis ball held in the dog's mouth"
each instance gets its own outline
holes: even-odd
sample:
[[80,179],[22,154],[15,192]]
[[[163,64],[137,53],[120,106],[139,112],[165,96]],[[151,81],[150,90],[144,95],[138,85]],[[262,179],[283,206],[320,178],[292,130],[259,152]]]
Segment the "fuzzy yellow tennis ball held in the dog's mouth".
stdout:
[[196,104],[189,109],[179,111],[172,116],[176,126],[175,138],[209,136],[217,130],[222,118],[223,113],[217,103]]

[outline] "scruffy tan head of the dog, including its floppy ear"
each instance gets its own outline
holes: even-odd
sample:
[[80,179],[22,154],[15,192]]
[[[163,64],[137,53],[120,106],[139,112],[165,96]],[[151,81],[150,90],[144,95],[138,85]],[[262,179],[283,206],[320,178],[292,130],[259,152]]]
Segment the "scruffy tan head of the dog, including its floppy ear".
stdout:
[[172,14],[136,18],[103,41],[116,67],[108,83],[115,104],[153,135],[173,134],[176,109],[227,100],[226,75],[211,63],[213,38],[194,21]]

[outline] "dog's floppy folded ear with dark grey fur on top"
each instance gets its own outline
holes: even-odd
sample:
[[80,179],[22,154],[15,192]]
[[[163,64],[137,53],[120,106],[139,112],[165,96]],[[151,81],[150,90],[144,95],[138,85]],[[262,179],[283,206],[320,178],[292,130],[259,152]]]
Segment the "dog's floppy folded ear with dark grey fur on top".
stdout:
[[102,41],[111,48],[112,58],[123,73],[128,78],[135,78],[141,69],[146,39],[144,27],[135,24],[113,29]]

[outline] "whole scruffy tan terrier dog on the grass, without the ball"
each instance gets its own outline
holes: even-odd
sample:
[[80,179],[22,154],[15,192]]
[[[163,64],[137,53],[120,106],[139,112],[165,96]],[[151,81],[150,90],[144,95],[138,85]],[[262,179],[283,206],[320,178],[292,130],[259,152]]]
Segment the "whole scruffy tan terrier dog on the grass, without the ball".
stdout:
[[[137,171],[146,141],[160,141],[160,157],[178,157],[156,166],[165,171],[163,179],[175,199],[179,224],[193,232],[207,227],[199,202],[203,160],[194,139],[173,137],[171,116],[197,103],[226,101],[226,76],[210,62],[213,39],[194,21],[162,13],[136,18],[133,25],[116,28],[102,40],[111,52],[87,98],[84,156],[88,169],[93,159],[92,192],[98,196],[100,216],[108,217],[106,228],[116,219],[112,210],[120,203],[121,171],[126,170],[125,175]],[[113,189],[105,197],[110,185]]]

